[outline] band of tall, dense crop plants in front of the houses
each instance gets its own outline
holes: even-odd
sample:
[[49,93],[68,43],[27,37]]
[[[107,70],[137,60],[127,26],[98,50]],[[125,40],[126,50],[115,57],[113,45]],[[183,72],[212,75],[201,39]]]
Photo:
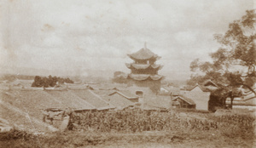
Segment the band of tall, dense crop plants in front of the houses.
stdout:
[[229,114],[215,116],[212,113],[208,113],[201,114],[201,117],[195,117],[191,116],[190,112],[185,114],[186,116],[180,115],[181,113],[177,111],[148,112],[141,110],[74,113],[70,128],[98,132],[142,132],[173,131],[178,129],[211,130],[233,126],[253,130],[255,122],[255,117],[251,115]]

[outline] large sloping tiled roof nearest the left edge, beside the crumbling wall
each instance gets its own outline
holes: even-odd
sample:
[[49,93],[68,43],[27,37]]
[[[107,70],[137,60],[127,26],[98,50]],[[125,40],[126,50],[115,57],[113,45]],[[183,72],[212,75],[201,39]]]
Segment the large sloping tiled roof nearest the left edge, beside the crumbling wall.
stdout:
[[43,90],[10,90],[0,94],[0,117],[28,129],[45,129],[41,110],[66,107]]

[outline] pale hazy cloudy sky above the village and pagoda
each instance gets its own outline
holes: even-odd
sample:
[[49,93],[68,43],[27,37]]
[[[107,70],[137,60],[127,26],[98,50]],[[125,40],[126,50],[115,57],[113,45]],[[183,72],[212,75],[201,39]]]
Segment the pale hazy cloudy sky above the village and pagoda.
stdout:
[[220,46],[213,34],[247,9],[253,0],[2,0],[0,67],[32,75],[22,69],[59,75],[101,69],[96,75],[111,77],[130,72],[127,54],[147,42],[162,57],[160,74],[184,79],[192,60],[206,60]]

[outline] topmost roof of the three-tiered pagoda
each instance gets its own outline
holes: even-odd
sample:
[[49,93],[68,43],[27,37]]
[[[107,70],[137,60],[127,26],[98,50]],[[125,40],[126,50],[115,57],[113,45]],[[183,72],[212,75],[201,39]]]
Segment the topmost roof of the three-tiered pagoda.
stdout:
[[151,58],[158,58],[157,54],[154,54],[148,48],[142,48],[136,53],[128,54],[128,56],[133,60],[149,60]]

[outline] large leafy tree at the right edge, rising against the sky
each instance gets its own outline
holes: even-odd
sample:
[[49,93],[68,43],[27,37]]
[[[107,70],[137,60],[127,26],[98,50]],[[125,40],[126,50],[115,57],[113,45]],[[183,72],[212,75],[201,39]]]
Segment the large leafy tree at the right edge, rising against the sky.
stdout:
[[247,10],[247,14],[240,20],[230,23],[229,30],[224,34],[214,35],[220,48],[210,54],[212,61],[200,61],[196,59],[191,62],[190,70],[197,73],[191,76],[189,84],[206,79],[212,79],[218,83],[220,90],[215,92],[221,95],[219,102],[225,102],[227,97],[231,99],[231,106],[234,98],[238,95],[234,88],[245,87],[250,89],[255,83],[256,54],[254,38],[256,13],[255,10]]

